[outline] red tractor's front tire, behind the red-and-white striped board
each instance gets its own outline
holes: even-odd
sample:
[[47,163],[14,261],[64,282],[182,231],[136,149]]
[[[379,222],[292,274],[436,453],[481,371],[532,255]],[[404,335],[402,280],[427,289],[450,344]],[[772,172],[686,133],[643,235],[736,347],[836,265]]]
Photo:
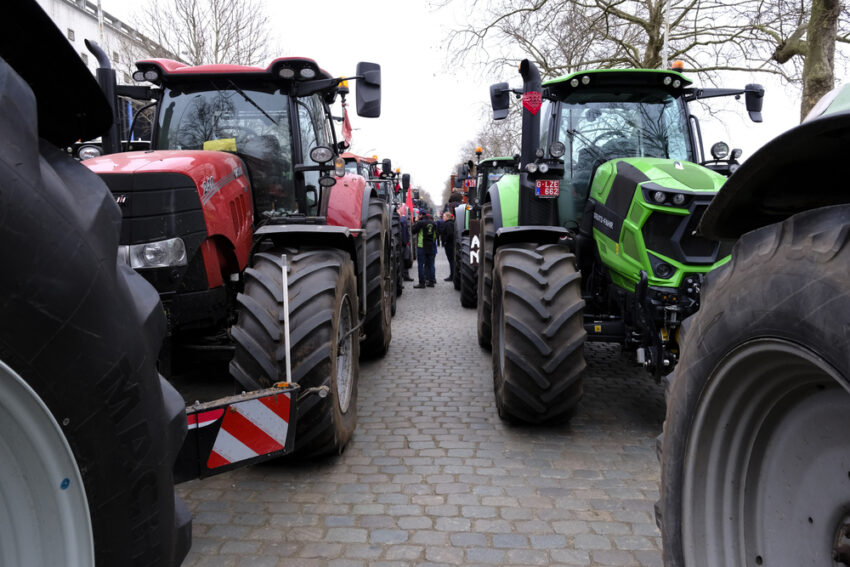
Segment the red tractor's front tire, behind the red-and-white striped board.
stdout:
[[289,285],[292,381],[328,388],[306,414],[299,415],[295,451],[300,458],[340,454],[357,424],[359,341],[357,283],[351,257],[332,248],[272,248],[254,256],[237,296],[239,316],[231,335],[236,352],[233,377],[246,389],[286,380],[283,271]]

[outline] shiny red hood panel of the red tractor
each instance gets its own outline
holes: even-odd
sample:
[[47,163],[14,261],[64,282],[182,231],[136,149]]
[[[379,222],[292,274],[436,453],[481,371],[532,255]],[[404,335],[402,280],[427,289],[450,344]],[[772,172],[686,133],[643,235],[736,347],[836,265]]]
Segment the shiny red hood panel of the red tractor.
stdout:
[[209,240],[201,250],[210,287],[221,285],[222,240],[229,243],[242,270],[248,265],[254,224],[254,206],[245,165],[226,152],[161,150],[126,152],[86,160],[95,173],[183,173],[195,182]]

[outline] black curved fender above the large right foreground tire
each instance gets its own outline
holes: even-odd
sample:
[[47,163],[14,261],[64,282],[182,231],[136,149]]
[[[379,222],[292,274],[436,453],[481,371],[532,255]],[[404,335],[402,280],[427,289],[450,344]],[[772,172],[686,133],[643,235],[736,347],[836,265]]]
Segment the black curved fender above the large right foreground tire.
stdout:
[[699,231],[736,239],[809,209],[850,203],[841,165],[850,111],[815,118],[777,136],[741,164],[705,211]]

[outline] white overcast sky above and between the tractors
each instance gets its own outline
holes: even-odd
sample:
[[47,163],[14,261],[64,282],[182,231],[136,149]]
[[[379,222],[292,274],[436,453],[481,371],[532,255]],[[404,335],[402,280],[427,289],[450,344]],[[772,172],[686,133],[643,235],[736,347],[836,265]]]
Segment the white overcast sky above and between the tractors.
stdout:
[[[132,21],[131,3],[102,3],[106,11]],[[410,173],[413,184],[428,191],[435,202],[441,199],[444,182],[461,158],[461,146],[475,136],[487,116],[489,84],[520,84],[514,69],[485,77],[480,65],[461,65],[450,56],[449,33],[471,17],[467,13],[467,5],[471,4],[468,0],[454,0],[442,8],[436,7],[437,2],[412,0],[375,0],[368,4],[267,0],[266,4],[273,42],[278,44],[280,55],[310,57],[333,75],[353,75],[358,61],[380,63],[381,117],[352,115],[352,151],[389,157],[393,167]],[[317,16],[321,19],[317,20]],[[699,83],[698,77],[691,78]],[[711,117],[701,117],[706,151],[713,142],[723,139],[732,147],[742,147],[746,158],[798,122],[796,89],[743,73],[731,75],[723,86],[742,88],[749,82],[761,82],[767,88],[765,122],[751,123],[743,100],[720,104],[729,109],[719,116],[722,124]],[[716,101],[712,101],[712,106],[718,104]]]

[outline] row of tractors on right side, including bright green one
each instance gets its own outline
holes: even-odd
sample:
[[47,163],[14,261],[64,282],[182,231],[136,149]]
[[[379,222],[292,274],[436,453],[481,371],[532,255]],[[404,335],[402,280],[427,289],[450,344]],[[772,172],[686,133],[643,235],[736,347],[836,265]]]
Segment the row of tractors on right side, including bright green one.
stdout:
[[455,286],[499,416],[570,419],[585,343],[619,343],[668,396],[665,564],[850,564],[850,210],[829,165],[848,90],[740,164],[704,154],[690,105],[743,96],[761,122],[759,85],[519,71],[490,89],[497,120],[521,99],[519,156],[479,150],[455,177]]

